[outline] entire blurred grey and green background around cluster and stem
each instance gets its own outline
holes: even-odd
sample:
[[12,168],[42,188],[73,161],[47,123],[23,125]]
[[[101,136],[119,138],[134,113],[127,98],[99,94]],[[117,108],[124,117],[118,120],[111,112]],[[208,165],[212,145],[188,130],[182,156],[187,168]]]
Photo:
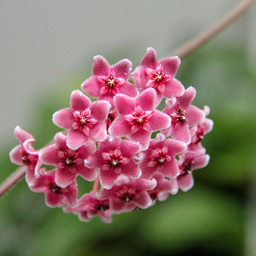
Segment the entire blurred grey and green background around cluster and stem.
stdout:
[[[16,125],[39,149],[60,129],[52,114],[90,76],[92,57],[135,68],[208,28],[237,0],[1,1],[0,182],[17,166]],[[89,223],[48,208],[21,180],[0,200],[0,255],[256,255],[256,6],[182,60],[177,78],[193,104],[211,107],[203,145],[210,164],[194,188],[138,212]]]

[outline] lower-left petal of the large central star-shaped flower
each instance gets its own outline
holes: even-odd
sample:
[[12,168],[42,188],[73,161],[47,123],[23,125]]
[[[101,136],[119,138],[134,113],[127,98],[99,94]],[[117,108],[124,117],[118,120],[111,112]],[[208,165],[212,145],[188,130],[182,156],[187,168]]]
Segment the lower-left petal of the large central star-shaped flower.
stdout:
[[117,117],[109,127],[109,134],[113,137],[123,137],[131,134],[131,124],[122,117]]

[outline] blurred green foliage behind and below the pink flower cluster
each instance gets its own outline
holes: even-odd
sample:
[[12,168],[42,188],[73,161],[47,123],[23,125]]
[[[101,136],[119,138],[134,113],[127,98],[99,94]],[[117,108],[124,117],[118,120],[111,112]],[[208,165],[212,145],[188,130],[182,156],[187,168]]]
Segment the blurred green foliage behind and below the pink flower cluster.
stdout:
[[[182,60],[177,78],[185,88],[196,88],[193,104],[210,106],[214,120],[202,142],[211,160],[194,171],[192,190],[147,210],[114,215],[112,224],[98,217],[84,223],[61,208],[48,208],[44,195],[31,192],[23,179],[0,201],[0,255],[256,255],[250,247],[256,228],[256,65],[246,52],[243,42],[216,38]],[[104,56],[110,64],[129,59],[121,50]],[[92,60],[85,62],[86,71],[64,77],[31,100],[27,132],[36,138],[36,149],[60,131],[52,114],[68,107],[71,91],[90,76]],[[17,168],[8,158],[16,145],[1,152],[0,181]]]

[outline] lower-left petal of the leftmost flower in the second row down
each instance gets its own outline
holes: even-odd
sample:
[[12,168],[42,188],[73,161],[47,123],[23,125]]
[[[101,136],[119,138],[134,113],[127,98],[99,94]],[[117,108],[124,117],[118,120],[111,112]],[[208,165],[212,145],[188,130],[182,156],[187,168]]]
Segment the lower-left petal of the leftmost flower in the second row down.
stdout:
[[76,150],[80,146],[86,144],[88,137],[79,130],[69,130],[67,133],[67,146],[72,150]]

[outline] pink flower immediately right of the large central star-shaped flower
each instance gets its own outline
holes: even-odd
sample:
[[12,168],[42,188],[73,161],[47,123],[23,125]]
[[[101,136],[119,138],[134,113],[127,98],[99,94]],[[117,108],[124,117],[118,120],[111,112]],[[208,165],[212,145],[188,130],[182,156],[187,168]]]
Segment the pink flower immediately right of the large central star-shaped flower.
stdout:
[[171,117],[171,126],[163,131],[167,137],[190,144],[189,127],[202,123],[205,119],[204,111],[191,105],[195,95],[195,88],[189,87],[181,97],[166,100],[166,108],[162,112]]

